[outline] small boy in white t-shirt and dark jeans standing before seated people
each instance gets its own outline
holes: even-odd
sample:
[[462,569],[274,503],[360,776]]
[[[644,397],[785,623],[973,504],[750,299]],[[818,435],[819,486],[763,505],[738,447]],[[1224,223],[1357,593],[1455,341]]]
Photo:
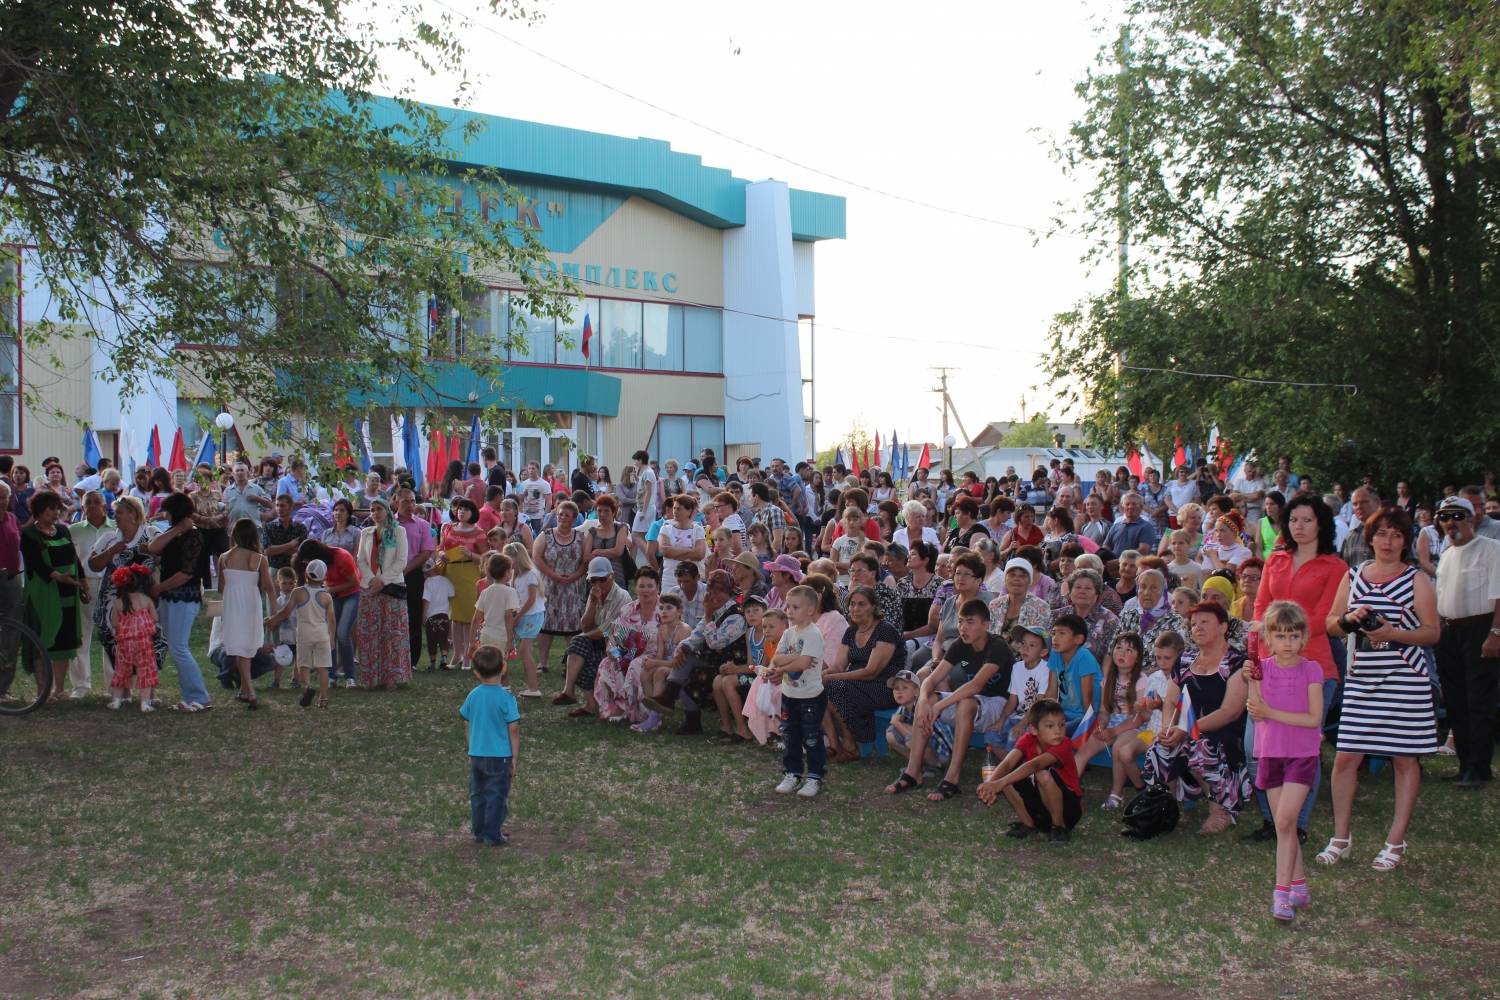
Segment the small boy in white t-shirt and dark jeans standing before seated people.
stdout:
[[818,631],[818,591],[810,586],[794,586],[786,595],[786,615],[792,624],[782,633],[766,673],[766,681],[782,684],[782,739],[786,741],[783,777],[776,790],[780,795],[796,792],[804,799],[822,789],[828,766],[828,748],[824,745],[828,694],[824,693],[824,634]]

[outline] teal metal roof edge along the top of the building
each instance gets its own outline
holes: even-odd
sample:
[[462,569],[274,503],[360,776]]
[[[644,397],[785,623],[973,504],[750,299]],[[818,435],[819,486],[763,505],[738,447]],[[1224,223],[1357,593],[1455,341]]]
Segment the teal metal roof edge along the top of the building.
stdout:
[[[426,105],[448,121],[453,160],[490,166],[507,180],[552,180],[639,195],[716,229],[746,223],[744,189],[750,183],[728,169],[705,166],[702,157],[678,153],[662,139],[566,129],[556,124],[501,118],[460,108]],[[408,121],[392,97],[372,97],[376,124]],[[477,123],[472,138],[465,136]],[[844,238],[844,199],[812,190],[790,190],[792,238]]]

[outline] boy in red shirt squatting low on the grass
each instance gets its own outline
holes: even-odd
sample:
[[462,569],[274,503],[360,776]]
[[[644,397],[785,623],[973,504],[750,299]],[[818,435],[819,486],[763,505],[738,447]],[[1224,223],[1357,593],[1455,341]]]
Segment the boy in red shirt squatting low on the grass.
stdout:
[[1026,717],[1026,735],[1016,750],[994,769],[994,775],[980,786],[980,801],[994,805],[1002,795],[1016,810],[1017,822],[1006,837],[1024,840],[1032,834],[1048,834],[1054,844],[1066,844],[1078,820],[1083,819],[1083,786],[1072,760],[1066,717],[1062,705],[1041,699]]

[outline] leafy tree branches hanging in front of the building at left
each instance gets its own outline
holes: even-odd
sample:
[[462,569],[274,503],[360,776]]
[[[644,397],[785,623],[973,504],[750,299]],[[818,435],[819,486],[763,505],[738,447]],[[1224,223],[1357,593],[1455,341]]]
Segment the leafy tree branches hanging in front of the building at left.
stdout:
[[[492,0],[532,16],[518,3]],[[462,79],[453,24],[417,3],[0,6],[0,231],[34,247],[60,316],[27,346],[100,340],[129,396],[192,343],[196,394],[261,421],[327,423],[398,385],[450,402],[434,328],[465,330],[464,361],[498,384],[476,271],[519,282],[534,315],[572,285],[542,277],[498,172],[452,168],[474,126],[374,96],[390,57]]]

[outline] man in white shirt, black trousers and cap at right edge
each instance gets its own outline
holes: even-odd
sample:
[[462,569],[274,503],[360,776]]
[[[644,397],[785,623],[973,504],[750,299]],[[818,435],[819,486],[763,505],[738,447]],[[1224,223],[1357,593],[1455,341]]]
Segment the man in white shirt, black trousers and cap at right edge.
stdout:
[[1448,547],[1437,564],[1437,676],[1458,751],[1458,787],[1492,777],[1500,681],[1500,541],[1474,534],[1474,505],[1449,496],[1437,508]]

